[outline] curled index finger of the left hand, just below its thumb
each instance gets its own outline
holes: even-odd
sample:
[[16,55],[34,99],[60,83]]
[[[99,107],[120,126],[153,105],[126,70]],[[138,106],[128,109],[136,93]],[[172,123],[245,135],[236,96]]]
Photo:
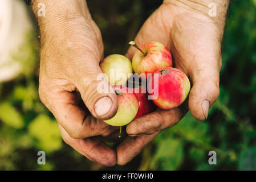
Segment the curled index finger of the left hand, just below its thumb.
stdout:
[[[45,90],[39,85],[41,101],[54,114],[58,123],[75,139],[100,135],[109,130],[109,125],[81,109],[74,93],[54,88]],[[42,90],[43,89],[43,90]]]

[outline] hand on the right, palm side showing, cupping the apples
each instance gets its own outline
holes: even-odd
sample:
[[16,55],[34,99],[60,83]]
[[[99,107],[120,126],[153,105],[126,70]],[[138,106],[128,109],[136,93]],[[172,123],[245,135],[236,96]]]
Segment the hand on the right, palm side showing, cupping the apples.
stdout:
[[[216,2],[217,17],[208,15],[211,2]],[[204,5],[201,3],[189,0],[164,1],[141,27],[135,42],[141,45],[157,41],[170,49],[174,67],[186,73],[192,84],[186,108],[189,108],[194,118],[205,120],[209,107],[220,93],[221,41],[228,1],[211,0],[204,1]],[[135,51],[135,48],[129,48],[127,57],[130,60]],[[117,147],[117,163],[128,163],[161,130],[175,125],[186,112],[181,107],[159,109],[129,123],[127,134],[141,136],[124,139]]]

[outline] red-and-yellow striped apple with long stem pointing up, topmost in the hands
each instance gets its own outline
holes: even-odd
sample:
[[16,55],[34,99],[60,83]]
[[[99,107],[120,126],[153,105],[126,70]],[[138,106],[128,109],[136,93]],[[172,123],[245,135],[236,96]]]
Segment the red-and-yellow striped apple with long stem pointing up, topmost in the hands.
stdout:
[[133,41],[129,44],[138,49],[132,57],[132,69],[138,75],[145,73],[147,78],[147,73],[154,73],[159,69],[172,67],[172,55],[164,44],[148,42],[140,48]]

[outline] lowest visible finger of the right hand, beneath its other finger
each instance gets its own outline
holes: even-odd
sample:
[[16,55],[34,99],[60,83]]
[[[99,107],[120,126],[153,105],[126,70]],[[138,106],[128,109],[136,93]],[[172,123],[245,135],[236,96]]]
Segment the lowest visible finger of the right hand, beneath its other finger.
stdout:
[[140,137],[127,137],[116,148],[117,164],[125,165],[130,162],[156,135],[143,135]]

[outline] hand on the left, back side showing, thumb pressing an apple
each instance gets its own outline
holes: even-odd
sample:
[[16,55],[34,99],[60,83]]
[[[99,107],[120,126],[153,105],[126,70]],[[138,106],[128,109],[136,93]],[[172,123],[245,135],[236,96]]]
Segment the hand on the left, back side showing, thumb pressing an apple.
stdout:
[[97,92],[101,81],[97,80],[99,61],[103,58],[99,28],[86,1],[34,0],[35,15],[38,3],[46,5],[47,13],[37,17],[41,36],[40,100],[54,114],[67,144],[88,159],[113,166],[115,151],[93,137],[112,130],[102,119],[113,117],[117,111],[115,93]]

